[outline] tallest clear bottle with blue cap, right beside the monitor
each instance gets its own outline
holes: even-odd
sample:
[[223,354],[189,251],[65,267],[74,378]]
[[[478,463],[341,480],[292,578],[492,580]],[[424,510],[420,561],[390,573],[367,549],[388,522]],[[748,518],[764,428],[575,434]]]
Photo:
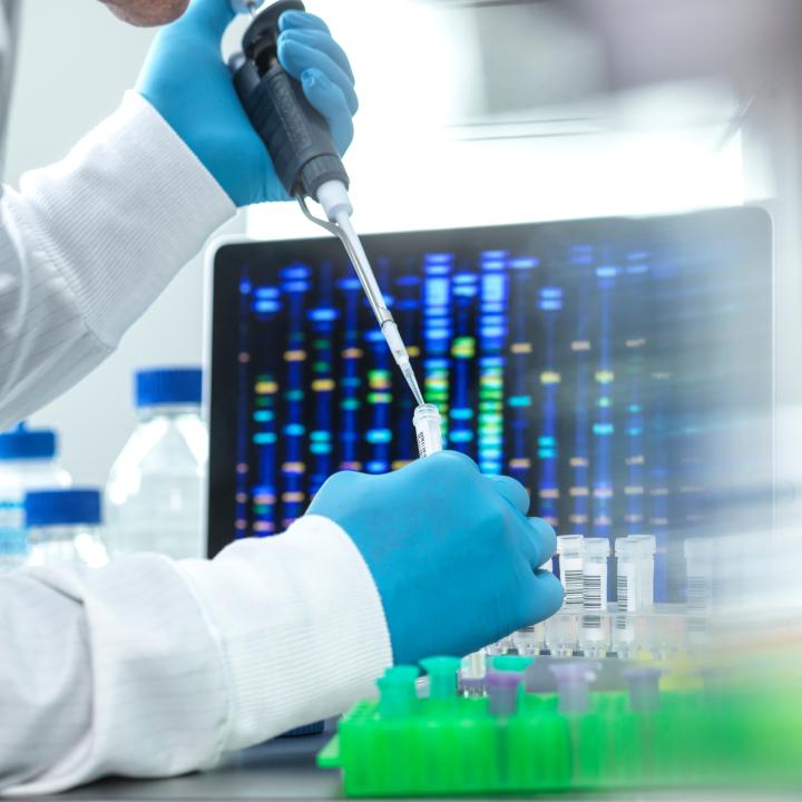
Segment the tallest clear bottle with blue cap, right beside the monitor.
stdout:
[[203,498],[208,432],[200,417],[199,368],[135,374],[139,424],[106,486],[111,559],[143,551],[204,557]]

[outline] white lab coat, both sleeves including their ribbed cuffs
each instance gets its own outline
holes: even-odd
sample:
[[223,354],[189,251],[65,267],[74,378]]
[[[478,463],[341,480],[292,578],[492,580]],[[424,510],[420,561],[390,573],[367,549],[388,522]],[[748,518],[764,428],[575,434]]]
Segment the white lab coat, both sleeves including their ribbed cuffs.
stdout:
[[[4,188],[0,428],[110,354],[233,214],[134,94],[63,162]],[[370,571],[321,517],[212,561],[0,576],[0,791],[207,767],[343,711],[390,662]]]

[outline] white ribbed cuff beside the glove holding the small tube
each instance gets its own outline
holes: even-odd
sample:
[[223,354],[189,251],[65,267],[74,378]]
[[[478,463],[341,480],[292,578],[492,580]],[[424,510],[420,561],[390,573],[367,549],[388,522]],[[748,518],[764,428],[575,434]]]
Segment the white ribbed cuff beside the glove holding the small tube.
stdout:
[[243,749],[344,712],[392,663],[373,577],[338,525],[305,516],[211,563],[184,560],[221,649],[225,749]]

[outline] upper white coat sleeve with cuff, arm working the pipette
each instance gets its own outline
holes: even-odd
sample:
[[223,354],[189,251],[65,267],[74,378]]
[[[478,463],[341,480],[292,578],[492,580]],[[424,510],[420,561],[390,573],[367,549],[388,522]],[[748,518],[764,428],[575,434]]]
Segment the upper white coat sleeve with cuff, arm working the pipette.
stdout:
[[139,95],[0,197],[0,430],[102,361],[235,207]]

